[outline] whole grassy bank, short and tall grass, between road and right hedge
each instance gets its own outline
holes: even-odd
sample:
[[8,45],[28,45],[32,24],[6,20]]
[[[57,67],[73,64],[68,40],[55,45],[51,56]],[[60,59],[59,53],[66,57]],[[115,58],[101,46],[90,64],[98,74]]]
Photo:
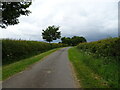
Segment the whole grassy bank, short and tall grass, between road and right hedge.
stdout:
[[[118,88],[118,67],[114,60],[95,58],[78,48],[69,49],[72,62],[82,88]],[[106,64],[107,63],[107,64]]]

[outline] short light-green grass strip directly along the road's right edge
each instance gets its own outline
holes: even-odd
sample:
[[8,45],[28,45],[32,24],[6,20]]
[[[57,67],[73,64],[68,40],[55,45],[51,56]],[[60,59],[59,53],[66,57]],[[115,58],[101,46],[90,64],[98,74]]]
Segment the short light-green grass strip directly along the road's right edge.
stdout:
[[108,87],[106,81],[83,62],[84,60],[90,60],[88,56],[80,53],[76,48],[70,48],[68,50],[68,55],[75,68],[77,79],[80,81],[81,88]]

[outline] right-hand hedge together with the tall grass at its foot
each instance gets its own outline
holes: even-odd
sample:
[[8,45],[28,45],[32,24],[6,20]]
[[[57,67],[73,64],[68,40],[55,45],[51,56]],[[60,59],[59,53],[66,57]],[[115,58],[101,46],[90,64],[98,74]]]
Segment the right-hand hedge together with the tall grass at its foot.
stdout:
[[120,87],[120,38],[81,43],[77,49],[89,59],[82,60],[105,79],[109,87]]

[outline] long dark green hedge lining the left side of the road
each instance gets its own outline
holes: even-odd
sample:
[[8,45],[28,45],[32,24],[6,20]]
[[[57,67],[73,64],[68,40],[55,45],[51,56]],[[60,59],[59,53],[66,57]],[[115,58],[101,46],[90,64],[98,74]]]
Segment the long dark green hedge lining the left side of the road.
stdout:
[[2,40],[2,64],[10,64],[50,49],[64,46],[66,45],[38,41]]

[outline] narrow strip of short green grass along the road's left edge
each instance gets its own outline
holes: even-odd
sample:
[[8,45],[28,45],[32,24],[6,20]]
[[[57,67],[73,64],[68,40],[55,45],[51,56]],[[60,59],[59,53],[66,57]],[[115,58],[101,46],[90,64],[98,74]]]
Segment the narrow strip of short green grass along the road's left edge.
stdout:
[[40,61],[45,56],[57,51],[58,49],[60,49],[60,48],[53,49],[53,50],[41,53],[39,55],[3,66],[2,67],[2,80],[5,80],[5,79],[9,78],[10,76],[25,70],[28,66],[34,64],[37,61]]

